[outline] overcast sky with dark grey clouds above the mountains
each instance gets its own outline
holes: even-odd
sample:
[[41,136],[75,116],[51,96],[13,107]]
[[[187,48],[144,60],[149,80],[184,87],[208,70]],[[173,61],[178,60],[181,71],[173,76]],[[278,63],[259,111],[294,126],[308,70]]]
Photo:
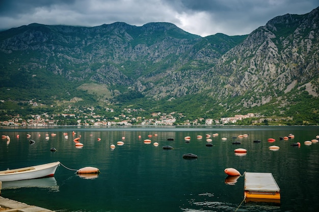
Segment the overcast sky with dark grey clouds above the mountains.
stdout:
[[301,15],[318,6],[318,0],[0,0],[0,29],[30,23],[170,22],[202,37],[246,35],[276,16]]

